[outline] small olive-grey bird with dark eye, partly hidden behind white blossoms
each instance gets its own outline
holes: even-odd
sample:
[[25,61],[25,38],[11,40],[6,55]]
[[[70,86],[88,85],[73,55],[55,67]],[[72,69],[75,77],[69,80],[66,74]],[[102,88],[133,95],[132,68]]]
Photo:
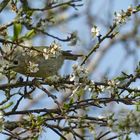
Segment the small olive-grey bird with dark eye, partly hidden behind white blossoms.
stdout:
[[57,75],[64,60],[77,60],[82,55],[63,51],[53,43],[50,47],[16,47],[8,55],[8,68],[30,77]]

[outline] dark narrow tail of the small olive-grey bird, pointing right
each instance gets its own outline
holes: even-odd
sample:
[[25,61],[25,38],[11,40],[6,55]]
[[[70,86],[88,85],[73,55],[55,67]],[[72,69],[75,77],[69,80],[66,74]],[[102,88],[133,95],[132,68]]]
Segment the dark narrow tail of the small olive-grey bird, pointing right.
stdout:
[[68,59],[68,60],[77,60],[78,57],[83,56],[80,54],[72,54],[71,51],[62,51],[62,54],[65,57],[65,59]]

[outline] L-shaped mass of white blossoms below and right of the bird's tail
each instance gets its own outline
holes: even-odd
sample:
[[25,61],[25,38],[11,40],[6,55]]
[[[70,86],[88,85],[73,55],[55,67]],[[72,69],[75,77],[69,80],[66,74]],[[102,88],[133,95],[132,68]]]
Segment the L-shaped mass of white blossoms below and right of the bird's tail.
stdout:
[[117,80],[107,80],[105,83],[89,80],[87,69],[78,65],[73,66],[73,73],[70,75],[70,81],[74,82],[74,93],[83,89],[84,91],[94,92],[93,97],[95,98],[97,98],[100,93],[109,91],[114,93],[113,91],[116,90],[119,85]]

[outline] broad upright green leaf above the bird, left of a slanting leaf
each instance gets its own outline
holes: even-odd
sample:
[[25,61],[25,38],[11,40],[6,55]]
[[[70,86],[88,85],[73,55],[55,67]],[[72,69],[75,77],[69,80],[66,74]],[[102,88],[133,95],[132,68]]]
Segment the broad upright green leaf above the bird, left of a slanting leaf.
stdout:
[[22,31],[22,25],[20,23],[14,23],[14,36],[13,40],[17,40],[19,38],[19,35]]

